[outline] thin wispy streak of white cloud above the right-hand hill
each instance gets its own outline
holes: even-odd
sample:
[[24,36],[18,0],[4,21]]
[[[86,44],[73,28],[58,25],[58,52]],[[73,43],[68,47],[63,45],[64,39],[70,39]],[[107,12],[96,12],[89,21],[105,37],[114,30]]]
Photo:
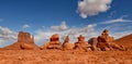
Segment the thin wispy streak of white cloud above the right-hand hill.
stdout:
[[107,21],[107,22],[102,22],[101,24],[129,23],[129,22],[132,22],[132,21],[124,20],[123,17],[119,17],[119,18],[116,18],[116,20],[110,20],[110,21]]

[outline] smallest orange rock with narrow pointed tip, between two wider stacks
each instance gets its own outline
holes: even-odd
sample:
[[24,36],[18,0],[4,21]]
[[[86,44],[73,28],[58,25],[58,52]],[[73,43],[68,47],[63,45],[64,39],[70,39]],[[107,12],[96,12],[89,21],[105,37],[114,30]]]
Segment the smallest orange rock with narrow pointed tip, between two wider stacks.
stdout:
[[64,41],[64,43],[63,43],[63,50],[65,51],[65,50],[73,50],[74,49],[74,43],[70,43],[69,42],[69,37],[68,36],[66,36],[66,39],[65,39],[65,41]]

